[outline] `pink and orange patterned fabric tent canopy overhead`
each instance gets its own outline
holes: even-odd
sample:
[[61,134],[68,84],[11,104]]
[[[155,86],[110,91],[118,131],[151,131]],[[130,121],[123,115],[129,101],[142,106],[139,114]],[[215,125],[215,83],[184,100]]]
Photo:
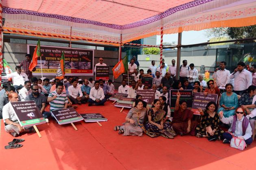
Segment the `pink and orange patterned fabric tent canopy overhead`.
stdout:
[[161,26],[172,34],[256,24],[256,0],[2,0],[2,6],[5,33],[114,44],[160,35]]

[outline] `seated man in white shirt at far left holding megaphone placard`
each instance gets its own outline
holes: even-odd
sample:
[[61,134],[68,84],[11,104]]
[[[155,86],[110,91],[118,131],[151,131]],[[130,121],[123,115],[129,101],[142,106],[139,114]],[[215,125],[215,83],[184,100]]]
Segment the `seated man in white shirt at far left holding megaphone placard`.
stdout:
[[14,137],[22,132],[35,132],[33,127],[21,127],[18,122],[13,107],[11,106],[11,102],[19,101],[18,94],[15,92],[9,93],[8,98],[9,102],[3,107],[3,120],[5,124],[4,130]]

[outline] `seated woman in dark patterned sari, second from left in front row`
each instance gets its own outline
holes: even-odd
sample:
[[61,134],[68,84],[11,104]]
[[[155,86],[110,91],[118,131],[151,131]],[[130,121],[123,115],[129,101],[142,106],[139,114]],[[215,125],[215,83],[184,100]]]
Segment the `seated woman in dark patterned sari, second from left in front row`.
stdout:
[[161,109],[161,103],[155,99],[152,108],[148,110],[148,122],[145,124],[146,134],[152,138],[163,136],[173,139],[176,135],[169,123],[164,123],[165,111]]

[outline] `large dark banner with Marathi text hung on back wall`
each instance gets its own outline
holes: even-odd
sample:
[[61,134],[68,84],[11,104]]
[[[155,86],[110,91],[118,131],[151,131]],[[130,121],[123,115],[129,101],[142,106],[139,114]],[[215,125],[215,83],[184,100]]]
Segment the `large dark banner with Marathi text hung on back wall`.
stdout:
[[[28,45],[28,53],[33,54],[36,45]],[[43,75],[56,76],[61,60],[61,53],[65,55],[65,76],[93,76],[93,49],[76,49],[69,47],[52,47],[41,45],[41,61],[38,58],[37,70],[33,75],[41,75],[41,62]]]

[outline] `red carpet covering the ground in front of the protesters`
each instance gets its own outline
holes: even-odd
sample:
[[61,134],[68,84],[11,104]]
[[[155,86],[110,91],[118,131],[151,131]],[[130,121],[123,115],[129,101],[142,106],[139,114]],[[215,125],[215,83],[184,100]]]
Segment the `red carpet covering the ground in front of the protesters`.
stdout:
[[124,122],[128,109],[106,102],[105,106],[87,104],[77,108],[78,113],[101,113],[108,119],[97,123],[58,125],[55,121],[38,125],[42,135],[24,134],[24,145],[19,149],[4,149],[13,137],[1,125],[1,169],[31,170],[151,170],[151,169],[255,169],[256,142],[244,151],[222,144],[208,142],[206,138],[177,136],[174,140],[143,135],[121,136],[113,131]]

